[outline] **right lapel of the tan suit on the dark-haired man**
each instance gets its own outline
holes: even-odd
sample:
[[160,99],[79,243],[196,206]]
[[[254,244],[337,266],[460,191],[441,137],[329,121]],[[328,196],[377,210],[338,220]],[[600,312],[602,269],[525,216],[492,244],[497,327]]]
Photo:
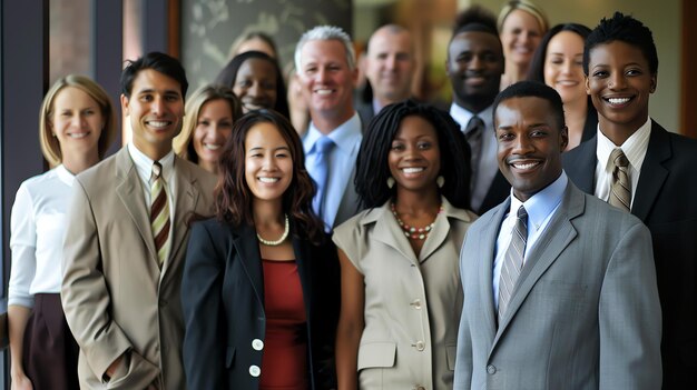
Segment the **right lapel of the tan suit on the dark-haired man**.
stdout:
[[198,188],[196,188],[196,178],[193,177],[192,171],[181,163],[178,157],[175,157],[174,174],[176,178],[176,194],[175,194],[175,223],[173,224],[171,233],[171,254],[165,261],[163,266],[163,273],[166,271],[168,264],[184,248],[186,241],[186,234],[188,233],[189,226],[188,219],[192,217],[192,212],[196,210],[196,203],[198,202]]

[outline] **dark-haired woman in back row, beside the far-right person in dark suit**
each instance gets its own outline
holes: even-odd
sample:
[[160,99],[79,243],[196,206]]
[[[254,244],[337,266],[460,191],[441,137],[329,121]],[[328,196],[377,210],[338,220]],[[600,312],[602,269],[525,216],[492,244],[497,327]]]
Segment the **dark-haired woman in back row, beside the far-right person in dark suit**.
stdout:
[[598,112],[586,93],[583,43],[590,29],[565,23],[551,28],[534,52],[528,79],[548,84],[559,92],[569,128],[567,150],[591,139],[598,129]]

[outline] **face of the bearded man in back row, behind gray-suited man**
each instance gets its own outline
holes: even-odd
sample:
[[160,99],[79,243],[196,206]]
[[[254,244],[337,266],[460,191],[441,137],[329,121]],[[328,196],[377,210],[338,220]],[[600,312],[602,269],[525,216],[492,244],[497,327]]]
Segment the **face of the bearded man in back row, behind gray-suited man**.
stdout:
[[450,42],[445,68],[455,103],[474,113],[485,109],[499,93],[503,73],[499,38],[482,31],[460,32]]

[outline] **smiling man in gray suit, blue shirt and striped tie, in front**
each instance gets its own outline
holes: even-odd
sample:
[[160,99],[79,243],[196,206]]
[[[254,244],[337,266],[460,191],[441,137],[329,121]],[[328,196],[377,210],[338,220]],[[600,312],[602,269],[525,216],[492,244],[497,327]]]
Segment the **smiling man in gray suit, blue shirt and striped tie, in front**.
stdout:
[[520,82],[493,104],[512,193],[468,231],[455,389],[659,389],[660,304],[636,217],[561,166],[561,99]]

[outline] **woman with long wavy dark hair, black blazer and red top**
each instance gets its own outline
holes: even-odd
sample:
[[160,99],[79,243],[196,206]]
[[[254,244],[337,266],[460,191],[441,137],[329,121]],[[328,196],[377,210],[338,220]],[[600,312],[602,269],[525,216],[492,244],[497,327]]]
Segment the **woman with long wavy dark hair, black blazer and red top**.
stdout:
[[297,132],[275,111],[233,128],[215,217],[192,228],[183,278],[189,389],[328,389],[336,249],[312,212]]

